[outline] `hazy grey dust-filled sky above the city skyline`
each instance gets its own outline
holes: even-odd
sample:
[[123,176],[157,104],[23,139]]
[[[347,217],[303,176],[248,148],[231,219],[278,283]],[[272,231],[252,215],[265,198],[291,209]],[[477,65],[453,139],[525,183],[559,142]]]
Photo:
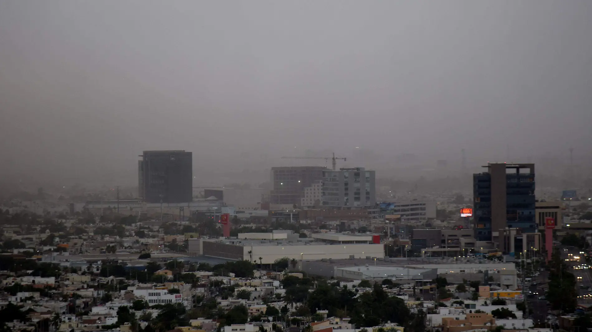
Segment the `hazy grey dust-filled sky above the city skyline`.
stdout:
[[240,152],[294,147],[590,154],[591,17],[590,0],[0,0],[0,168],[133,177],[144,149],[237,170]]

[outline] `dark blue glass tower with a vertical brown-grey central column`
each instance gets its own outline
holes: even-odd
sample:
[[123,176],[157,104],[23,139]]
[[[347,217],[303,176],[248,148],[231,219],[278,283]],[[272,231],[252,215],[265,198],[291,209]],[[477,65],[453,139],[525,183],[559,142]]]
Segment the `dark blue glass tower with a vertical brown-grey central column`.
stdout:
[[506,227],[537,231],[535,164],[488,164],[473,174],[475,237],[498,242]]

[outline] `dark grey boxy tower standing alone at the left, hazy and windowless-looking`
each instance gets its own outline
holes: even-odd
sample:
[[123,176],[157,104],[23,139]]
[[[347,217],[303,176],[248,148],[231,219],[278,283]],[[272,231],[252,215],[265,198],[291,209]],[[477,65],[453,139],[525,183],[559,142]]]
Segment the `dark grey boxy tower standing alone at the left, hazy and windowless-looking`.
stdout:
[[148,203],[192,201],[192,154],[185,150],[144,151],[138,161],[139,196]]

